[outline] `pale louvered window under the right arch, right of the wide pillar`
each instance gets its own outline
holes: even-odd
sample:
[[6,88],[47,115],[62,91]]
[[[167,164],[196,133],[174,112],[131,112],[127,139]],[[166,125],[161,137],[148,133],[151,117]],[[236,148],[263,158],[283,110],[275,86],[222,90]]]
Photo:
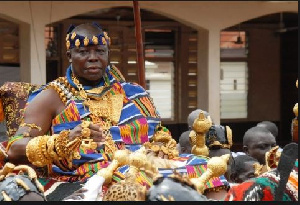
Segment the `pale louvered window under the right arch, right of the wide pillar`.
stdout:
[[247,118],[248,44],[246,32],[221,32],[221,119]]

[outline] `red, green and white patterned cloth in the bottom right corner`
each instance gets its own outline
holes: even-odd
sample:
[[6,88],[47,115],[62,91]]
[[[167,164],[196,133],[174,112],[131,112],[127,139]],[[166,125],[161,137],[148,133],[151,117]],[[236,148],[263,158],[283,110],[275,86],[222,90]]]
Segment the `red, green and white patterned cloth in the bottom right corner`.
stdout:
[[[257,178],[231,187],[225,201],[274,201],[279,181],[280,175],[276,169],[273,169]],[[298,201],[298,159],[289,175],[283,201]]]

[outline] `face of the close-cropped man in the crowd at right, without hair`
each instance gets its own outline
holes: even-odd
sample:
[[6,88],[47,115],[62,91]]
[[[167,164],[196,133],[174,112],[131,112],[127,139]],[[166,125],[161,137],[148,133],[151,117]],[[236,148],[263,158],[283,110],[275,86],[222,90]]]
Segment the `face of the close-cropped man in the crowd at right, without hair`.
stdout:
[[271,133],[257,133],[253,136],[245,150],[246,154],[258,160],[260,164],[265,164],[265,154],[272,147],[276,146],[275,137]]

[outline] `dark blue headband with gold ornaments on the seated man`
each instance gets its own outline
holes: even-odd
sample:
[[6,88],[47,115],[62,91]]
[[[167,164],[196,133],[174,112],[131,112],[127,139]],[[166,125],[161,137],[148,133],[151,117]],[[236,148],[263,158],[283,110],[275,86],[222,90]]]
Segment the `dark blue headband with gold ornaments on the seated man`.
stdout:
[[[96,27],[102,29],[97,23],[93,23]],[[66,47],[67,50],[72,49],[74,47],[84,47],[88,45],[111,45],[110,37],[107,32],[103,31],[103,33],[93,36],[92,38],[88,38],[87,36],[81,36],[77,34],[75,31],[71,32],[75,28],[74,25],[71,25],[68,29],[66,36]]]

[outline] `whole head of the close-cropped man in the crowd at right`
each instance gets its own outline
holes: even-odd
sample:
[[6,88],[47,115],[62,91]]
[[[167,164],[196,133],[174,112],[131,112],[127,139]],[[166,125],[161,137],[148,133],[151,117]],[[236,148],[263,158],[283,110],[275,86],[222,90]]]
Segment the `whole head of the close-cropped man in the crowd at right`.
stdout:
[[244,135],[244,152],[257,159],[260,164],[265,164],[265,154],[276,146],[276,139],[272,133],[263,127],[252,127]]

